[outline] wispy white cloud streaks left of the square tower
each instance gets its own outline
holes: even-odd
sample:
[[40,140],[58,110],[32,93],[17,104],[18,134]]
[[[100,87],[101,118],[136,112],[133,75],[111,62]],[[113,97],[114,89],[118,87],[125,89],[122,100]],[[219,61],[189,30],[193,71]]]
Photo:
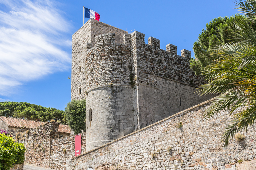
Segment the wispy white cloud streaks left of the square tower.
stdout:
[[[70,24],[48,0],[0,0],[0,95],[49,73],[67,70]],[[6,10],[8,9],[8,10]]]

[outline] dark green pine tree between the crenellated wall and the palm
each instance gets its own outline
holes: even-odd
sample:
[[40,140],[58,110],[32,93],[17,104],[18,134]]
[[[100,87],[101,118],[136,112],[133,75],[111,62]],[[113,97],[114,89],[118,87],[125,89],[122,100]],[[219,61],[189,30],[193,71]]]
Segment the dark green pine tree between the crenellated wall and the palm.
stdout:
[[[190,59],[190,67],[196,75],[201,74],[202,69],[216,58],[211,55],[216,45],[234,41],[233,38],[237,30],[234,23],[244,18],[243,15],[236,14],[230,18],[215,18],[206,24],[206,29],[202,30],[198,40],[193,45],[195,58]],[[249,24],[256,28],[252,23]]]

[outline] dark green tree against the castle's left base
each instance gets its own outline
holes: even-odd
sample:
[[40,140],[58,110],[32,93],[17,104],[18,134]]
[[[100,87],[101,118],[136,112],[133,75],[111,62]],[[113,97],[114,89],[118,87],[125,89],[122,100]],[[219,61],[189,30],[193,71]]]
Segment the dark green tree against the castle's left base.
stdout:
[[86,100],[72,100],[65,108],[67,123],[71,130],[77,133],[86,131]]

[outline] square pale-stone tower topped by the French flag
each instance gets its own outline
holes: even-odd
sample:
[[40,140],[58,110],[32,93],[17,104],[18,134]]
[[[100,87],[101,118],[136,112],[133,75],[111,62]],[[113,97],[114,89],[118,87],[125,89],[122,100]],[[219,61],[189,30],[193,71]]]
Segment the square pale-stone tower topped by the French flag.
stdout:
[[[86,47],[88,45],[95,45],[96,36],[107,33],[115,33],[115,41],[117,43],[123,43],[123,35],[127,31],[90,19],[72,36],[71,100],[81,100],[86,95],[86,79],[84,74],[86,67]],[[80,66],[82,69],[81,72],[79,70]],[[79,94],[79,88],[81,88],[81,94]]]

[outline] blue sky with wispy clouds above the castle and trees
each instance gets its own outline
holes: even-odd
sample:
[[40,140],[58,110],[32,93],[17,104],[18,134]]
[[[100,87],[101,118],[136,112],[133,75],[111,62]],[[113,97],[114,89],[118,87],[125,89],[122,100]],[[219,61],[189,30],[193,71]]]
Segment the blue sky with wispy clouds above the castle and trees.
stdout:
[[83,6],[101,22],[192,56],[206,23],[239,12],[232,0],[0,0],[0,102],[64,110],[71,100],[71,36],[83,25]]

